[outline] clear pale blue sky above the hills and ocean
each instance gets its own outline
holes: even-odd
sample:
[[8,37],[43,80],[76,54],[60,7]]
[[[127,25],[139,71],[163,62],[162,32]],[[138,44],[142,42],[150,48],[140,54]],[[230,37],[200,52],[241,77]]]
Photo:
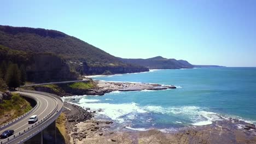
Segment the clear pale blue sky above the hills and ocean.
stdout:
[[0,25],[55,29],[123,58],[256,67],[256,1],[2,1]]

